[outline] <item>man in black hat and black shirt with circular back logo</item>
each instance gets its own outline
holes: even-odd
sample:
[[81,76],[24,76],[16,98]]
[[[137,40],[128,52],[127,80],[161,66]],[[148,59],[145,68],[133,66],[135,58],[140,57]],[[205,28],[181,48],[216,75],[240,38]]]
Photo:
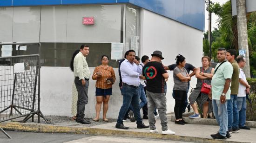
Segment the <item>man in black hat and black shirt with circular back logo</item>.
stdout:
[[175,134],[174,131],[168,130],[167,115],[166,115],[166,97],[164,93],[165,78],[169,75],[164,69],[161,60],[162,52],[155,51],[151,54],[150,62],[143,66],[142,74],[143,79],[146,79],[147,86],[146,92],[148,96],[148,122],[151,133],[157,133],[155,127],[155,107],[158,109],[159,117],[162,125],[162,134]]

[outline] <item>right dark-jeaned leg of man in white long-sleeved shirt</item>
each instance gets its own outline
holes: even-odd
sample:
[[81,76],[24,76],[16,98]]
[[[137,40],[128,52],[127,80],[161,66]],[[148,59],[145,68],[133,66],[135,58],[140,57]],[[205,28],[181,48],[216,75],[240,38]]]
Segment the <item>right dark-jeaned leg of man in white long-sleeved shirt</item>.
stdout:
[[141,110],[140,110],[140,97],[138,94],[138,89],[135,89],[131,91],[132,92],[132,101],[131,104],[133,106],[133,112],[134,112],[134,117],[137,121],[137,124],[142,124],[142,119],[141,119]]

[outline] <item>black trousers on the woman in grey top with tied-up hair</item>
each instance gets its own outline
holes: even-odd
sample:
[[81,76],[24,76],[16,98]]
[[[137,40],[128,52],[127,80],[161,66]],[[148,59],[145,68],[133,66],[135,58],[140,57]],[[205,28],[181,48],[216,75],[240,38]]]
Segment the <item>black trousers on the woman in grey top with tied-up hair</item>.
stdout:
[[176,120],[182,119],[182,111],[183,111],[185,99],[187,97],[187,91],[173,90],[173,92],[175,95],[175,106],[174,106],[175,118]]

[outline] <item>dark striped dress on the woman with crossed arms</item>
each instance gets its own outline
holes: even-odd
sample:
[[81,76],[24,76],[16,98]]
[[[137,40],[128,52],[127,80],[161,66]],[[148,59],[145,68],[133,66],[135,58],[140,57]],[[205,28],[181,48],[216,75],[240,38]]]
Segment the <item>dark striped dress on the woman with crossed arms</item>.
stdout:
[[[202,67],[200,67],[200,71],[202,71]],[[202,72],[204,73],[211,73],[212,67],[209,67],[207,70],[203,70]],[[211,85],[211,79],[203,79],[204,83],[207,83]],[[201,93],[201,88],[202,88],[202,79],[197,78],[197,83],[194,91],[190,94],[189,96],[189,102],[190,104],[194,104],[195,102],[197,103],[199,109],[202,111],[203,109],[203,104],[208,100],[208,94]],[[201,93],[201,96],[200,96]],[[212,112],[212,102],[209,100],[209,111],[208,113]]]

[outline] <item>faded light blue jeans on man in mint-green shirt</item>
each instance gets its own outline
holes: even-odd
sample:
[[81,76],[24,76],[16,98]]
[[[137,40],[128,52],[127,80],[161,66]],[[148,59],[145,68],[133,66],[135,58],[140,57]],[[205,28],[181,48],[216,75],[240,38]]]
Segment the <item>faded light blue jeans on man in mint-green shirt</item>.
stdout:
[[219,133],[222,136],[226,136],[228,131],[228,103],[225,102],[224,104],[221,103],[220,100],[212,100],[212,110],[214,116],[216,118],[217,123],[220,126]]

